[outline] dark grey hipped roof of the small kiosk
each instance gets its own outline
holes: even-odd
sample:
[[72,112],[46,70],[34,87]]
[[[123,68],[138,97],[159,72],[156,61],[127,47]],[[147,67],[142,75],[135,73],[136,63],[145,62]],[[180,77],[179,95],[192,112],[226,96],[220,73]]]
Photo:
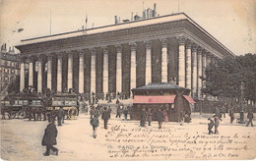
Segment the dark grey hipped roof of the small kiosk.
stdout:
[[133,88],[132,91],[137,90],[170,90],[170,89],[181,89],[181,90],[190,90],[186,87],[178,86],[171,82],[152,82],[148,85],[140,86],[137,88]]

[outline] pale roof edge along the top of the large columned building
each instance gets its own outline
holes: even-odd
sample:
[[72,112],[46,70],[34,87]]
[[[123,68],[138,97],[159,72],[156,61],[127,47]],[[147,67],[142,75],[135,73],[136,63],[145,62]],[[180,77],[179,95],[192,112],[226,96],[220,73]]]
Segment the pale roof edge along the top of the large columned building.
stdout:
[[58,39],[67,39],[67,38],[83,36],[83,35],[92,35],[92,34],[98,34],[98,33],[103,33],[103,32],[122,30],[122,29],[126,29],[126,28],[147,27],[147,26],[152,26],[152,25],[164,24],[164,23],[169,23],[169,22],[178,22],[178,21],[184,21],[184,20],[190,22],[194,27],[197,27],[204,34],[206,34],[210,39],[212,39],[214,42],[216,42],[218,45],[220,45],[227,53],[229,53],[231,56],[234,56],[234,54],[230,50],[228,50],[219,40],[217,40],[213,35],[211,35],[203,27],[200,27],[196,22],[194,22],[185,13],[164,15],[164,16],[160,16],[160,17],[135,20],[132,22],[125,22],[125,23],[116,24],[116,25],[109,25],[109,26],[104,26],[104,27],[94,27],[94,28],[88,28],[86,30],[81,29],[81,30],[76,30],[76,31],[69,31],[69,32],[64,32],[64,33],[23,39],[21,41],[22,43],[17,45],[16,47],[27,45],[27,44],[39,43],[39,42],[46,42],[46,41],[52,41],[52,40],[58,40]]

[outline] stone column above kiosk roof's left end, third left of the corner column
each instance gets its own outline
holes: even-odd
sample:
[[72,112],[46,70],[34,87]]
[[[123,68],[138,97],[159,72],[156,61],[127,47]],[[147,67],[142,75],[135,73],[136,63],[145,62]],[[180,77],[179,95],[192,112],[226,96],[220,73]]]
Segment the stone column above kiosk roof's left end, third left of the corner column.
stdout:
[[[131,46],[131,73],[130,73],[130,89],[136,88],[136,43]],[[130,92],[132,96],[132,92]]]

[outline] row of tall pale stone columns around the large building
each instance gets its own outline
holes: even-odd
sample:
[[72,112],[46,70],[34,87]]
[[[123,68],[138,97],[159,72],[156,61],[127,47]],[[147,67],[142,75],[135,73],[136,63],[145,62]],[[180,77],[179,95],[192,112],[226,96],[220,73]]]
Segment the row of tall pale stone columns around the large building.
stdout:
[[[201,78],[204,75],[204,71],[207,65],[209,65],[215,56],[211,54],[210,52],[207,52],[207,50],[203,49],[199,45],[196,45],[195,43],[192,43],[190,40],[185,39],[183,37],[177,38],[178,40],[178,46],[169,46],[168,47],[168,40],[167,38],[160,39],[161,43],[161,49],[160,49],[160,80],[161,82],[167,82],[168,79],[168,64],[170,63],[168,60],[168,55],[170,52],[168,51],[169,48],[175,48],[178,47],[178,59],[176,60],[177,66],[178,66],[178,74],[176,78],[176,83],[179,86],[187,87],[191,89],[191,93],[193,97],[202,98],[201,88],[204,85],[203,80]],[[152,82],[152,41],[145,41],[145,84],[148,84]],[[137,81],[137,43],[132,42],[129,43],[130,46],[130,80],[129,80],[129,86],[130,89],[138,87],[136,84]],[[116,50],[116,92],[122,92],[122,84],[123,84],[123,67],[122,67],[122,58],[123,58],[123,49],[122,45],[118,44],[115,45]],[[91,93],[96,93],[96,49],[89,49],[91,53],[91,84],[90,89]],[[107,46],[102,47],[102,92],[106,93],[109,92],[109,49]],[[52,75],[53,75],[53,61],[51,55],[46,55],[46,63],[47,63],[47,77],[46,77],[46,87],[52,89]],[[67,88],[74,88],[73,83],[73,64],[74,64],[74,55],[72,52],[68,53],[67,56]],[[37,58],[37,92],[42,92],[42,59],[40,56]],[[62,83],[63,83],[63,55],[57,54],[57,74],[56,74],[56,80],[57,80],[57,86],[56,91],[57,92],[63,92],[62,91]],[[34,70],[34,62],[30,60],[29,62],[29,85],[33,85],[33,70]],[[78,91],[79,93],[85,92],[85,53],[80,50],[79,51],[79,62],[78,62]],[[25,87],[25,62],[21,63],[21,78],[20,78],[20,90],[22,91]]]

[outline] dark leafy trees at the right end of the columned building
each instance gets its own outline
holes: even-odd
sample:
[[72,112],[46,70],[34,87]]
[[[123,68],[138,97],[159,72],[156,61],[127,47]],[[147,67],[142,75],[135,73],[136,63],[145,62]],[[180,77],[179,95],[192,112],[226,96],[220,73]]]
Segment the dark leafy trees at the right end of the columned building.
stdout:
[[220,97],[240,96],[241,82],[245,83],[244,97],[255,101],[256,54],[246,54],[235,58],[224,58],[206,68],[205,94]]

